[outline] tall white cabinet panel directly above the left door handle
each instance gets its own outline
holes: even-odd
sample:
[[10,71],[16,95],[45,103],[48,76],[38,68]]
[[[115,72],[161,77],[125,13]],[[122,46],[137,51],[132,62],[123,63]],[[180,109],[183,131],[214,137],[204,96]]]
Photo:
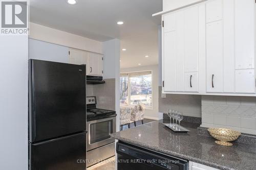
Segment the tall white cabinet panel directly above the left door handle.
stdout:
[[184,10],[184,71],[198,71],[198,6]]

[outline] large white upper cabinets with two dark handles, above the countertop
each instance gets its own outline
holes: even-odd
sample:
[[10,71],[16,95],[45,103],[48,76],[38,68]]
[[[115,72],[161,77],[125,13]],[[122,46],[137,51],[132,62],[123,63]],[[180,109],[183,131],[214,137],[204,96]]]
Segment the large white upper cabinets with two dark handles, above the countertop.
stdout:
[[208,0],[163,14],[163,93],[256,96],[254,3]]

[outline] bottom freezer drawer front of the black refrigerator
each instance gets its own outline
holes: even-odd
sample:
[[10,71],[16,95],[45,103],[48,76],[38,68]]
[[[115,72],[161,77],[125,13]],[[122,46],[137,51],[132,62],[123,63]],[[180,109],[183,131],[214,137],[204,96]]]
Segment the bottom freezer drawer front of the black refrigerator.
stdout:
[[30,170],[85,170],[86,133],[30,143]]

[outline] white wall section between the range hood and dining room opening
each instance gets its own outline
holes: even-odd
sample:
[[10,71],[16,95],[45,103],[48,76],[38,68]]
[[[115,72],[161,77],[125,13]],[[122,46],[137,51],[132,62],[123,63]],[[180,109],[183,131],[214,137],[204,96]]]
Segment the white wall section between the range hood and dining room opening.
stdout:
[[116,130],[120,130],[120,40],[112,39],[103,42],[103,54],[104,54],[104,79],[116,79],[115,80],[115,108],[117,114]]

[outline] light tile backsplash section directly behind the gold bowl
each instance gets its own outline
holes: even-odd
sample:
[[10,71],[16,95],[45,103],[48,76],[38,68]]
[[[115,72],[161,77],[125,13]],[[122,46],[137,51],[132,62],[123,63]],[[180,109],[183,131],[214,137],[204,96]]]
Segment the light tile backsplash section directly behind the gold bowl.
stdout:
[[203,95],[201,126],[256,134],[256,98]]

